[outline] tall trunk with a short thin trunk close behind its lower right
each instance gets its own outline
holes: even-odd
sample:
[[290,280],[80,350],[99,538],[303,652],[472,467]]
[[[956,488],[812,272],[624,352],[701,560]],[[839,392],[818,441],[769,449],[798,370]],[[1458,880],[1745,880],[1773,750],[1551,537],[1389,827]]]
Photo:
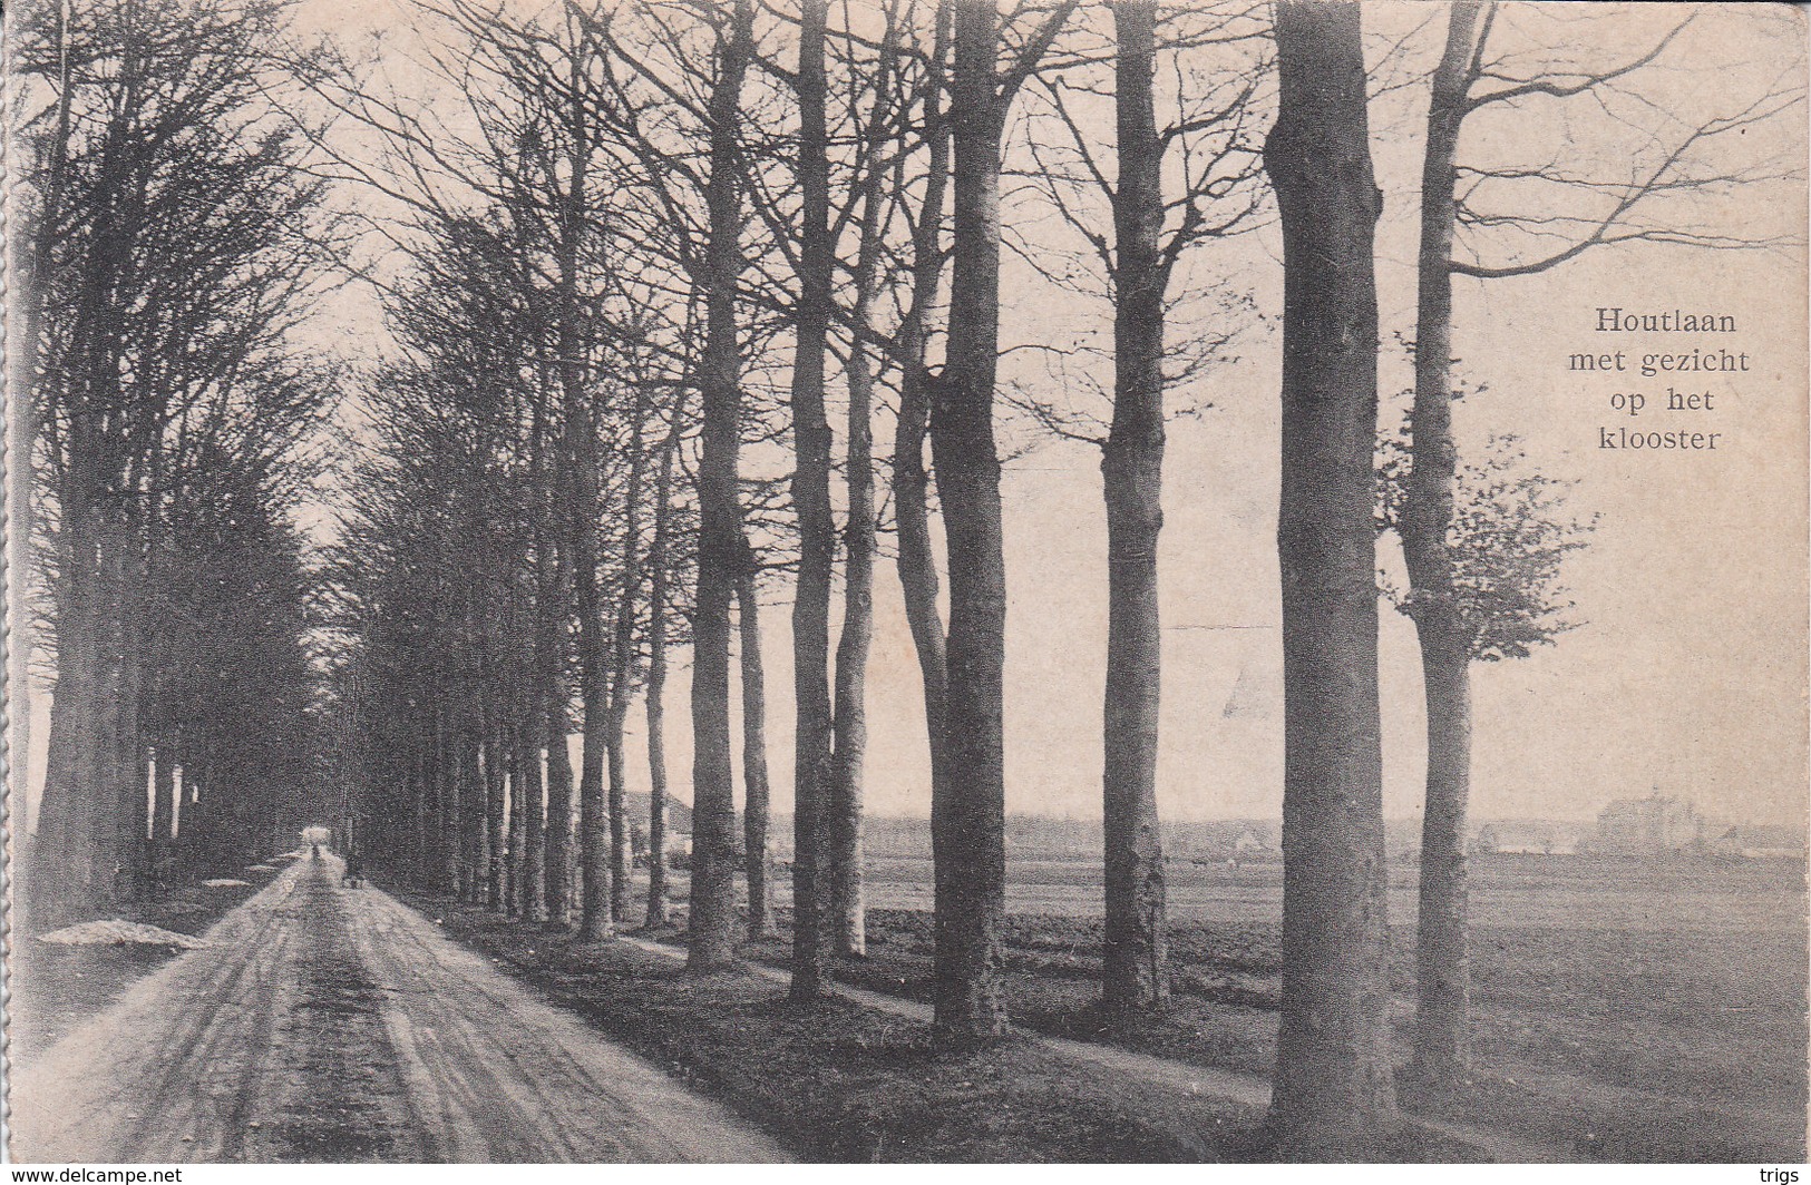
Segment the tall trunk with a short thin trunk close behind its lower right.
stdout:
[[735,961],[735,789],[730,763],[730,599],[741,564],[741,355],[735,289],[743,275],[737,163],[743,76],[753,52],[753,4],[735,0],[717,42],[710,94],[710,242],[704,259],[704,440],[697,474],[697,606],[692,624],[692,906],[686,966]]

